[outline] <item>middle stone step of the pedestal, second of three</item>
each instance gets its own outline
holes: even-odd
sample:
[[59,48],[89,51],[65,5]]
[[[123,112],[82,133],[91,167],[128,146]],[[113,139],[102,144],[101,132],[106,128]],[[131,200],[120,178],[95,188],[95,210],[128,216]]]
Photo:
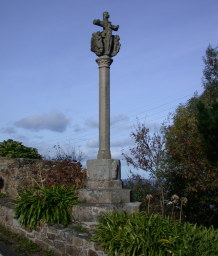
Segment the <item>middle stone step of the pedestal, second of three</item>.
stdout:
[[131,190],[81,188],[76,191],[78,200],[88,203],[120,203],[131,201]]

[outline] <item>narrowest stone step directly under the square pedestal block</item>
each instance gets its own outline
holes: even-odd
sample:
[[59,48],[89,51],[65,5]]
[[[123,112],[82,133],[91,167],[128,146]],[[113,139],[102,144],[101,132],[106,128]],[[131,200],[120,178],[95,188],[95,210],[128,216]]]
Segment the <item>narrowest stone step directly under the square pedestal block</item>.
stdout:
[[122,188],[123,181],[120,179],[85,179],[84,188]]

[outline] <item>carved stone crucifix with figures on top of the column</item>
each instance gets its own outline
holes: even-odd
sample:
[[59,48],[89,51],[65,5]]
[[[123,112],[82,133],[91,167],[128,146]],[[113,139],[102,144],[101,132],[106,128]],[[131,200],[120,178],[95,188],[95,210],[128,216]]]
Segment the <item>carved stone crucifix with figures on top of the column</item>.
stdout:
[[[121,44],[119,43],[119,36],[112,35],[112,30],[117,31],[119,25],[112,25],[108,21],[109,13],[107,11],[103,12],[103,21],[99,19],[94,19],[93,24],[103,27],[103,31],[100,33],[92,33],[91,37],[91,51],[93,51],[97,56],[107,55],[109,57],[115,56],[119,51]],[[101,47],[101,43],[103,47]]]

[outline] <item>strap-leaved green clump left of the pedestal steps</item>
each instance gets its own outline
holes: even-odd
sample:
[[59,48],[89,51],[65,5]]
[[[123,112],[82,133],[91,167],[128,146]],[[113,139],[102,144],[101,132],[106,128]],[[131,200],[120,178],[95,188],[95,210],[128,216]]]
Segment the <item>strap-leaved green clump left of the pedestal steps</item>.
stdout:
[[71,218],[70,207],[78,203],[75,186],[41,186],[19,192],[14,218],[35,229],[39,221],[66,226]]

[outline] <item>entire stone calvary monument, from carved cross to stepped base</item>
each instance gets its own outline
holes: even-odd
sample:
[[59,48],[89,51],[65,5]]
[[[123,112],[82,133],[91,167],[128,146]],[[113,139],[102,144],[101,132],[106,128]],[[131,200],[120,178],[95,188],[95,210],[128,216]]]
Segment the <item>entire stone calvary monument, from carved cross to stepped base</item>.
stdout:
[[111,159],[109,148],[109,68],[121,44],[119,36],[112,35],[119,25],[108,21],[109,14],[103,12],[103,20],[94,19],[93,24],[103,31],[92,33],[91,51],[98,58],[99,68],[99,150],[97,159],[86,162],[87,178],[84,188],[77,190],[80,204],[72,207],[72,214],[79,221],[96,221],[102,211],[122,209],[127,212],[140,210],[140,202],[131,202],[131,190],[124,189],[120,179],[120,160]]

